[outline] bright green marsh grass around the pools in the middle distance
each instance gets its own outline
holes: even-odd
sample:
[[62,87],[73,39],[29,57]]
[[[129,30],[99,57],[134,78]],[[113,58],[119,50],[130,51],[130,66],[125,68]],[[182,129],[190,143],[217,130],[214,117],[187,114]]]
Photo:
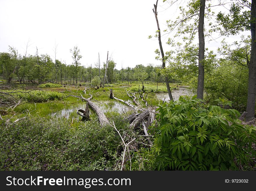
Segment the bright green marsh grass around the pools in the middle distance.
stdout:
[[[122,86],[120,86],[122,85]],[[175,87],[175,84],[170,84],[171,87]],[[80,99],[75,97],[66,97],[68,95],[78,95],[85,98],[89,98],[90,95],[93,95],[93,99],[96,99],[97,101],[104,102],[104,101],[110,101],[108,103],[109,107],[111,107],[112,99],[109,98],[109,89],[113,89],[114,96],[123,99],[125,101],[130,101],[130,103],[134,104],[132,99],[127,95],[126,90],[130,92],[136,92],[138,91],[138,84],[111,84],[112,87],[107,86],[106,88],[102,89],[99,88],[95,90],[95,88],[89,88],[86,91],[86,94],[84,94],[84,86],[67,86],[66,88],[60,87],[51,87],[46,88],[47,90],[44,91],[32,91],[30,92],[30,95],[27,93],[17,93],[15,96],[18,96],[19,99],[22,98],[24,101],[19,106],[17,106],[13,112],[10,112],[8,117],[17,114],[17,118],[19,116],[25,115],[26,113],[29,113],[33,116],[40,116],[40,117],[49,117],[51,113],[55,113],[58,111],[61,111],[63,109],[70,108],[70,106],[79,105],[81,103]],[[141,85],[140,85],[141,87]],[[145,90],[156,90],[157,85],[156,84],[145,84]],[[158,89],[159,91],[165,92],[166,89],[165,85],[159,84]],[[105,92],[104,92],[105,90]],[[62,91],[63,93],[60,93],[59,91]],[[71,93],[72,92],[72,93]],[[154,92],[146,91],[147,92],[147,102],[149,106],[158,106],[159,100],[157,99]],[[166,90],[167,92],[167,90]],[[80,95],[81,94],[81,95]],[[145,97],[146,94],[144,94]],[[139,94],[136,94],[136,97],[139,97]],[[145,107],[145,103],[141,101],[141,99],[138,100],[138,102],[141,104],[141,106]],[[110,112],[111,113],[111,112]],[[94,111],[90,112],[90,115],[95,114]],[[74,111],[74,114],[72,114],[73,117],[77,116],[76,112]],[[109,115],[109,114],[108,114]],[[111,116],[111,115],[109,115]]]

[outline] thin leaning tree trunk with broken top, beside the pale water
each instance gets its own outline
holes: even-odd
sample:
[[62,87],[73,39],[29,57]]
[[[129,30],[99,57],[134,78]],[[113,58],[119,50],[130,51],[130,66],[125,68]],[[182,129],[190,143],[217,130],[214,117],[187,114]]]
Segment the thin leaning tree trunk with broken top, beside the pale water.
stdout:
[[[158,3],[158,0],[157,0],[157,3]],[[158,23],[158,19],[157,19],[157,3],[154,4],[153,12],[155,14],[156,21],[157,21],[158,42],[159,42],[159,47],[160,47],[160,51],[161,51],[161,55],[162,55],[162,68],[164,69],[165,68],[165,59],[164,59],[162,42],[161,42],[160,27],[159,27],[159,23]],[[167,91],[168,91],[169,98],[170,98],[170,100],[173,100],[173,95],[172,95],[172,92],[171,92],[171,89],[170,89],[168,76],[165,76],[165,83],[166,83],[166,88],[167,88]]]

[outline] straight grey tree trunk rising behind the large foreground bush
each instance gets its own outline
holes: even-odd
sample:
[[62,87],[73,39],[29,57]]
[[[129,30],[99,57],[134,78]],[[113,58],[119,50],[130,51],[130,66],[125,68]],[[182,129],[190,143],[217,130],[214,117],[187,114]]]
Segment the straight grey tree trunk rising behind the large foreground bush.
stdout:
[[200,0],[198,38],[198,83],[197,83],[197,98],[203,99],[204,94],[204,78],[205,78],[205,37],[204,37],[204,18],[205,18],[205,0]]

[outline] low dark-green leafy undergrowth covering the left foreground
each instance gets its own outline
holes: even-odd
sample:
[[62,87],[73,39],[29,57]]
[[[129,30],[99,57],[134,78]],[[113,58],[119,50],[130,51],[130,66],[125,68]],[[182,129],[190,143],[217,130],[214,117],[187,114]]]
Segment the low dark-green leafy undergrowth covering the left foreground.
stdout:
[[[118,128],[127,124],[115,116]],[[1,170],[108,170],[117,164],[120,137],[95,121],[71,127],[70,120],[26,118],[0,124]]]

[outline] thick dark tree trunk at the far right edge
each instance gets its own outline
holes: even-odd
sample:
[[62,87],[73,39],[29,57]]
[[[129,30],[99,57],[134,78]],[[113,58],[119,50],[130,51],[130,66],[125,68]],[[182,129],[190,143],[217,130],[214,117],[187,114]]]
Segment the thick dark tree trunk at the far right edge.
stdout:
[[251,4],[251,55],[249,64],[248,78],[248,96],[246,106],[246,120],[251,121],[255,115],[255,96],[256,96],[256,39],[255,39],[255,19],[256,19],[256,0],[252,0]]

